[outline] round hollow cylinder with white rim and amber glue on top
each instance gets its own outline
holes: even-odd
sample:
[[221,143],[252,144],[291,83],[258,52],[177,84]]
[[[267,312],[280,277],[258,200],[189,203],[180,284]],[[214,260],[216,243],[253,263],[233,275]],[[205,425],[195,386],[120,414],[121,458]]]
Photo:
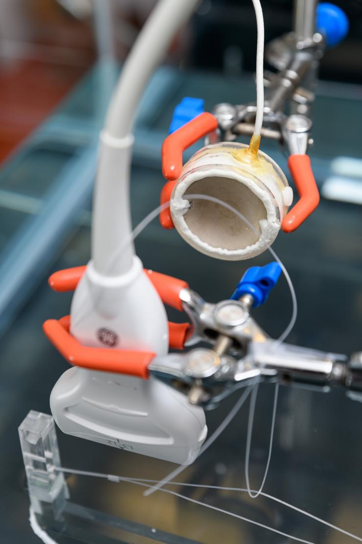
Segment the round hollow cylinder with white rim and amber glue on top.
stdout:
[[[173,190],[170,210],[181,234],[198,251],[230,261],[255,257],[274,242],[293,191],[283,171],[268,155],[257,160],[239,143],[203,147],[185,164]],[[240,153],[240,151],[242,151]],[[242,213],[188,194],[216,197]]]

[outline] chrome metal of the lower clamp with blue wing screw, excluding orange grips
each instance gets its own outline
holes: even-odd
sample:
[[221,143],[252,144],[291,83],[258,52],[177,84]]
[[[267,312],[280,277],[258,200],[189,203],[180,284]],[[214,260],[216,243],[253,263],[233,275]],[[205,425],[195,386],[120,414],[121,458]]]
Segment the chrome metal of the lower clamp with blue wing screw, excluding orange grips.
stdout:
[[[232,299],[218,304],[206,302],[188,288],[182,289],[182,307],[193,324],[185,346],[203,341],[211,347],[155,357],[148,367],[150,374],[166,379],[187,394],[190,403],[206,408],[212,408],[239,387],[261,381],[321,391],[340,386],[352,399],[362,401],[361,354],[347,360],[345,355],[280,343],[269,338],[251,317],[251,308],[265,301],[272,287],[267,288],[262,302],[260,294],[250,287],[270,279],[265,268],[247,271]],[[254,282],[250,281],[250,271],[254,271]]]

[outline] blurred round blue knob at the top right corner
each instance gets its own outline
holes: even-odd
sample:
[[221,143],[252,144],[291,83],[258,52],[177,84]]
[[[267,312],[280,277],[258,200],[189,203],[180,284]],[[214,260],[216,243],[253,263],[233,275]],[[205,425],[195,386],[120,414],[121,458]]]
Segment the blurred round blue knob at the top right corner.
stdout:
[[317,30],[326,36],[328,47],[334,47],[345,39],[350,28],[345,12],[329,2],[321,2],[317,7]]

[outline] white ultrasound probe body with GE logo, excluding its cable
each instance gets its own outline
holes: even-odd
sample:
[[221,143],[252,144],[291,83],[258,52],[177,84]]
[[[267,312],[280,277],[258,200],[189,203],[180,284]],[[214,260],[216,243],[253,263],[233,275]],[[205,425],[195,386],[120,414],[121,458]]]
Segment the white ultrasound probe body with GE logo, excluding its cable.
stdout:
[[[166,312],[138,257],[121,276],[88,264],[71,333],[84,345],[167,354]],[[192,462],[207,434],[204,410],[156,379],[71,368],[55,384],[50,409],[67,434],[176,463]]]

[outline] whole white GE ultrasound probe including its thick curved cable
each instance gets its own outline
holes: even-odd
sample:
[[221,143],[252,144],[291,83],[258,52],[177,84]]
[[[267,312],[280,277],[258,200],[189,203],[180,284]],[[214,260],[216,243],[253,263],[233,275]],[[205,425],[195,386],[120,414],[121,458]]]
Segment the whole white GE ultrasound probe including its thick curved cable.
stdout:
[[[151,73],[196,3],[157,3],[113,94],[101,133],[92,261],[71,309],[71,333],[84,345],[168,351],[166,312],[130,242],[131,126]],[[156,380],[73,368],[50,406],[64,432],[179,463],[192,462],[207,432],[204,411]]]

